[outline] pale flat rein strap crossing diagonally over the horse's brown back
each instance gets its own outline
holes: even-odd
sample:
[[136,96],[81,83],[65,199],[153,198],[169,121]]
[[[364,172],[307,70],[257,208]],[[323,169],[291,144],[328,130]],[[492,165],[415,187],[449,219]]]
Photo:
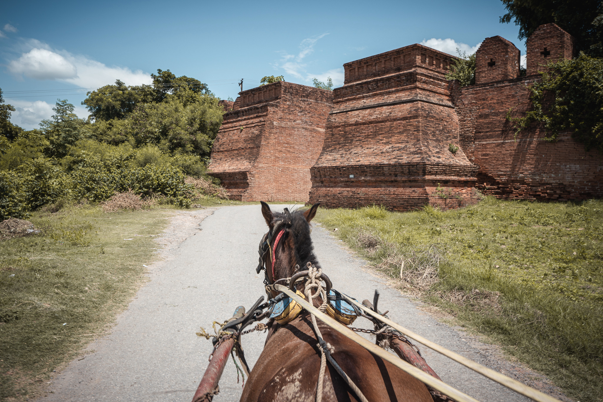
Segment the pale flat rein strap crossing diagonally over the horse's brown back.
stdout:
[[316,318],[320,319],[325,324],[329,325],[329,327],[333,328],[334,330],[338,331],[339,333],[343,334],[344,336],[347,336],[347,338],[352,339],[352,341],[361,345],[366,350],[370,351],[370,353],[373,353],[373,354],[379,356],[381,359],[387,360],[388,362],[392,363],[394,366],[397,366],[398,368],[402,369],[403,371],[408,372],[408,374],[412,375],[412,377],[415,377],[418,380],[420,380],[421,382],[425,383],[426,385],[429,385],[432,388],[437,389],[442,394],[448,395],[450,398],[452,398],[456,402],[479,402],[478,400],[470,397],[469,395],[466,395],[463,392],[458,391],[458,389],[452,388],[450,385],[447,385],[446,383],[442,382],[441,380],[438,380],[437,378],[432,377],[431,375],[427,374],[426,372],[422,371],[421,369],[418,369],[415,366],[413,366],[409,363],[406,363],[404,360],[400,359],[399,357],[394,356],[393,354],[389,353],[388,351],[385,351],[384,349],[373,344],[372,342],[369,342],[366,339],[362,338],[362,336],[356,334],[354,331],[350,330],[350,328],[346,327],[343,324],[339,324],[338,321],[336,321],[333,318],[330,318],[330,316],[326,315],[325,313],[318,310],[316,307],[312,306],[312,304],[308,303],[305,299],[299,297],[294,292],[289,291],[288,287],[282,286],[280,284],[275,284],[274,288],[277,291],[285,292],[289,297],[291,297],[293,300],[297,301],[297,303],[299,303],[303,308],[305,308],[306,310],[308,310],[309,312],[314,314],[316,316]]

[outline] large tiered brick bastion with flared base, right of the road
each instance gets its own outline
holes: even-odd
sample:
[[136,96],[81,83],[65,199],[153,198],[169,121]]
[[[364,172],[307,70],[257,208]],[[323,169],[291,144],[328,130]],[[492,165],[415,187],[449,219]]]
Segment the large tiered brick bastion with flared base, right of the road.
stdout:
[[[411,45],[344,64],[311,203],[394,210],[473,203],[477,166],[458,146],[446,75],[452,56]],[[440,184],[440,189],[437,189]]]

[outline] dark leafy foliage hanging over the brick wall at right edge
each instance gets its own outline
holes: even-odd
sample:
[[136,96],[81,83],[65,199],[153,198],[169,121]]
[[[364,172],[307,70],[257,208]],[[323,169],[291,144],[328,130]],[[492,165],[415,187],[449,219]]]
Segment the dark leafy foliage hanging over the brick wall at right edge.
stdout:
[[516,133],[531,122],[543,122],[546,140],[554,142],[561,131],[570,131],[587,150],[603,152],[603,59],[581,52],[578,58],[548,67],[542,80],[529,87],[532,110],[520,118],[511,118],[512,110],[507,114]]

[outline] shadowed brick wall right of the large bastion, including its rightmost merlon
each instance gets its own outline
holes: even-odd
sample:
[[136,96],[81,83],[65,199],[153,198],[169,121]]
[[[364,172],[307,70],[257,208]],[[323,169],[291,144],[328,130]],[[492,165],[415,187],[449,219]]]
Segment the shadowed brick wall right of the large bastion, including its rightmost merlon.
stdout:
[[513,124],[506,118],[510,108],[512,117],[525,116],[531,110],[526,86],[540,79],[540,75],[529,74],[545,60],[540,51],[545,47],[551,51],[549,61],[571,58],[573,48],[568,46],[572,41],[557,25],[542,25],[528,39],[528,77],[463,88],[451,82],[461,147],[479,166],[476,187],[484,193],[505,199],[540,200],[603,196],[601,155],[584,151],[584,145],[569,133],[560,134],[556,143],[546,142],[539,124],[532,124],[516,138]]

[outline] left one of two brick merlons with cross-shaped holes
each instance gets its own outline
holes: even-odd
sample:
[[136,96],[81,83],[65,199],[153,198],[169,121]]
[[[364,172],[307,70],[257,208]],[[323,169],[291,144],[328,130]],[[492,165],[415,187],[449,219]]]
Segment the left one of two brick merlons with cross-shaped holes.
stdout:
[[507,39],[484,39],[475,52],[475,83],[510,80],[519,77],[520,51]]

